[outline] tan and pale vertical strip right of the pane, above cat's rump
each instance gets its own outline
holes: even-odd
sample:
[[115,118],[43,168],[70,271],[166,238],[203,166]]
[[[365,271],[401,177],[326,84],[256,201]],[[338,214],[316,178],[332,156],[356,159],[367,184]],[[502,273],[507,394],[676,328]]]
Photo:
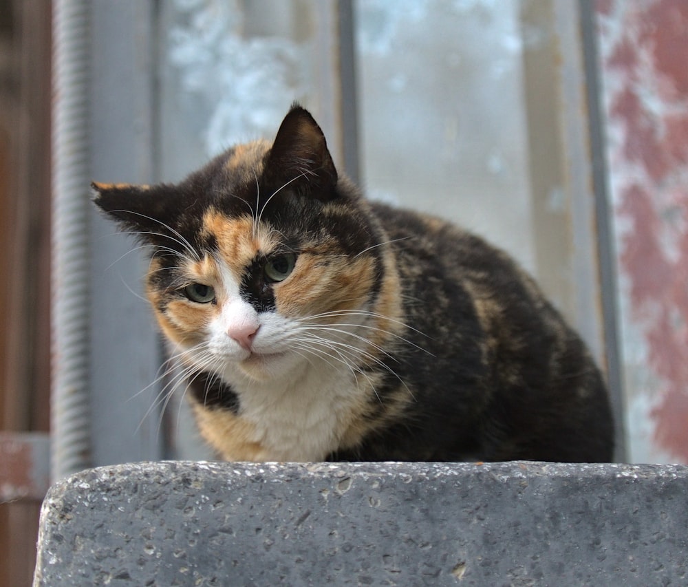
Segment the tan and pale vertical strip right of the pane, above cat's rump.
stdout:
[[538,277],[606,363],[579,6],[521,5]]

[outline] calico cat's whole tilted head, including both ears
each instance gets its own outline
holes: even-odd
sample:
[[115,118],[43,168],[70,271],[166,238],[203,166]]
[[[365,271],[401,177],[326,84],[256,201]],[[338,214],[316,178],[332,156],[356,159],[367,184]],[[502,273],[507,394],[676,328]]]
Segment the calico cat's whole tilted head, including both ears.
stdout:
[[147,296],[187,364],[265,380],[369,352],[360,329],[381,312],[384,235],[305,109],[272,144],[237,145],[179,184],[93,189],[148,248]]

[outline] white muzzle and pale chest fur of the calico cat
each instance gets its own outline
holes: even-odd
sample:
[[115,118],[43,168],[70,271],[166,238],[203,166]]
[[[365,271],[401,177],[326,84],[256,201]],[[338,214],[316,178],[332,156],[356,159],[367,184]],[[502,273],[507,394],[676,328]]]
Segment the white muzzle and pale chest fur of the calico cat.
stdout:
[[333,323],[257,312],[226,273],[227,299],[186,363],[220,376],[239,411],[198,409],[202,434],[228,460],[323,460],[342,447],[374,386],[358,367],[372,357],[367,334],[380,330],[368,324],[372,312],[333,312]]

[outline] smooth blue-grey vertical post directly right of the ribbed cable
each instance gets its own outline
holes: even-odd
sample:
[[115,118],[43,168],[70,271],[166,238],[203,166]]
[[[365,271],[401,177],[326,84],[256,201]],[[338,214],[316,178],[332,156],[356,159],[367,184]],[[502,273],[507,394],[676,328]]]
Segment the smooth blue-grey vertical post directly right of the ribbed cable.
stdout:
[[[155,180],[154,4],[93,3],[94,180]],[[91,387],[96,465],[162,456],[154,409],[157,389],[150,386],[160,364],[158,335],[141,288],[146,264],[140,253],[131,253],[133,240],[116,232],[94,209]]]

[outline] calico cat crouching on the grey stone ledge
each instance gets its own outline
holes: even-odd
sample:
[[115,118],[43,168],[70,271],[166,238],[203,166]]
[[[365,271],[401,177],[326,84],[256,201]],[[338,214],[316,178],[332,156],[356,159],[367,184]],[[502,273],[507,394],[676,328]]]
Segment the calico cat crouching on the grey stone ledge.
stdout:
[[508,255],[369,202],[294,105],[177,185],[93,184],[226,460],[612,459],[600,371]]

